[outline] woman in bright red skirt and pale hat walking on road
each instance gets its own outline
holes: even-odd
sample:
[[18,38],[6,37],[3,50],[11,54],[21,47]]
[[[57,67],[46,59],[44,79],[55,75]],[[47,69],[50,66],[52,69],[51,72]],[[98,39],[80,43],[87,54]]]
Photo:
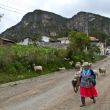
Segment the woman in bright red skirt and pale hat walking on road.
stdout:
[[96,103],[95,97],[98,96],[95,89],[96,76],[93,70],[89,67],[88,62],[83,63],[83,69],[80,74],[80,96],[82,104],[80,107],[85,106],[85,98],[90,97],[93,103]]

